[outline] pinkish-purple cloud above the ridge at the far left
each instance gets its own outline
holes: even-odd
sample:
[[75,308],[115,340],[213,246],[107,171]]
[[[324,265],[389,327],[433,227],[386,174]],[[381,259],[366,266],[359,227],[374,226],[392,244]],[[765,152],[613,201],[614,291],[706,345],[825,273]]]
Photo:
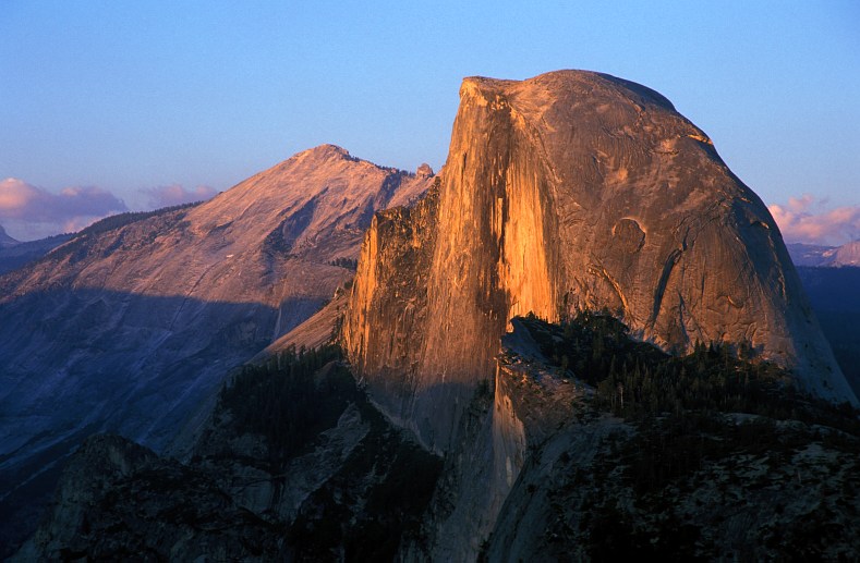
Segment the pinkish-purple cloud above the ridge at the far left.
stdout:
[[99,187],[66,187],[54,194],[15,178],[0,181],[0,221],[29,237],[76,231],[128,210],[122,199]]

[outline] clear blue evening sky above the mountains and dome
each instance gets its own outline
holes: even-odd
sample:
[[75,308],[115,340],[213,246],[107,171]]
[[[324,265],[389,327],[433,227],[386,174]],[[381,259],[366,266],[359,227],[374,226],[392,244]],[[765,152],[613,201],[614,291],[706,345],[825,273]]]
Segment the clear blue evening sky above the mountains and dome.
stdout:
[[0,223],[198,198],[322,143],[438,169],[463,76],[588,69],[667,96],[786,238],[860,236],[860,3],[403,4],[0,0]]

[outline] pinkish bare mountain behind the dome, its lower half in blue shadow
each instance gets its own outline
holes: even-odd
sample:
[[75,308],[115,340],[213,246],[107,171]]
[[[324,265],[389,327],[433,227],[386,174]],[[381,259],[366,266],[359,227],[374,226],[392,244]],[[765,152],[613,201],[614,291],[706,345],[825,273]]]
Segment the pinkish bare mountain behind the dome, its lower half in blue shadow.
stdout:
[[0,278],[2,519],[28,521],[12,514],[90,433],[165,448],[231,367],[352,277],[338,265],[374,212],[431,182],[324,145],[205,204],[106,219]]

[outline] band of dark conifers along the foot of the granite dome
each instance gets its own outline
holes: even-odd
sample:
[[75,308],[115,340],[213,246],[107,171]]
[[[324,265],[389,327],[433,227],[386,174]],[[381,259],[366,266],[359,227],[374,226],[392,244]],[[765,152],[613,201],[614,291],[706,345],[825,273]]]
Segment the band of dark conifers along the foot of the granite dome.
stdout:
[[786,370],[755,358],[743,343],[699,343],[674,356],[634,341],[606,310],[580,311],[558,327],[532,317],[528,326],[556,367],[594,385],[597,405],[625,418],[747,413],[860,432],[853,408],[801,392]]

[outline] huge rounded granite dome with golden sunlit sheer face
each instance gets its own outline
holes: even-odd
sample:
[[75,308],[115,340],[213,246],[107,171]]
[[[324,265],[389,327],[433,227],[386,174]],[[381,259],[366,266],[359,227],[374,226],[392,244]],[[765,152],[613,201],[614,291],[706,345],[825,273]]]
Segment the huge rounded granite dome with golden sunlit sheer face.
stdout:
[[[346,323],[377,401],[425,444],[448,446],[508,319],[528,311],[609,307],[679,352],[749,343],[806,389],[857,402],[766,207],[666,98],[580,71],[467,78],[460,97],[435,234],[417,243],[433,244],[428,266],[403,264],[409,218],[393,231],[378,218]],[[410,273],[407,291],[387,284]]]

